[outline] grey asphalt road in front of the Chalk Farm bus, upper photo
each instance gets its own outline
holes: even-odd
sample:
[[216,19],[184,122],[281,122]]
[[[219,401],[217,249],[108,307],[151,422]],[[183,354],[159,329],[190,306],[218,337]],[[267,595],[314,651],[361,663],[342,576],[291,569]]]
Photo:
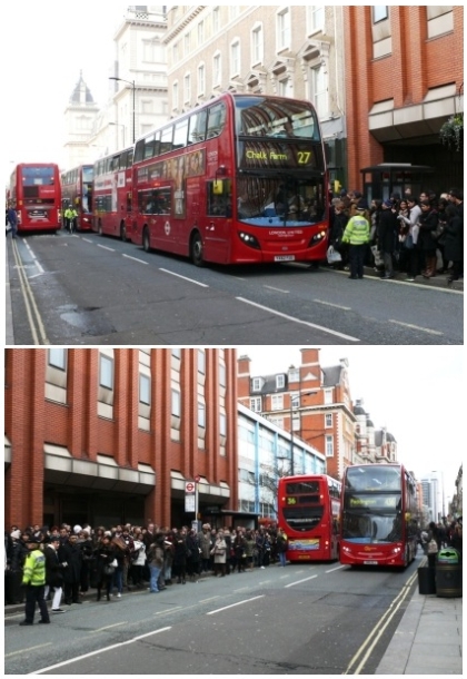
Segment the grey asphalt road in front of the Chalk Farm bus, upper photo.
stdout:
[[456,291],[298,264],[200,269],[97,234],[8,247],[16,345],[463,343]]

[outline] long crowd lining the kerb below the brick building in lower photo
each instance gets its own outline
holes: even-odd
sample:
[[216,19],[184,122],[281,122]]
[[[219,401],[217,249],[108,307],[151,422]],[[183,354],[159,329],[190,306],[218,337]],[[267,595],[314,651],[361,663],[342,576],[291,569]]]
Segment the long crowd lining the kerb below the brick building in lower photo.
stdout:
[[[4,540],[6,603],[28,599],[24,589],[31,585],[31,573],[27,557],[42,554],[43,599],[52,599],[53,613],[64,612],[62,592],[67,606],[81,603],[90,589],[96,589],[97,601],[120,598],[123,590],[131,589],[157,593],[175,582],[197,582],[202,574],[225,577],[276,561],[286,565],[287,550],[287,537],[280,529],[215,530],[208,523],[200,531],[189,527],[169,530],[153,523],[95,530],[89,524],[50,530],[37,524],[24,531],[12,525]],[[37,597],[34,600],[39,602]]]

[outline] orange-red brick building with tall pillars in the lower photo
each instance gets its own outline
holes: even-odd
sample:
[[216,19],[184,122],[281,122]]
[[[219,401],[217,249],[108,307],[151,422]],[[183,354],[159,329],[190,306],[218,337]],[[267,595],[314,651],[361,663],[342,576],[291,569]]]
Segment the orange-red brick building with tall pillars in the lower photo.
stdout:
[[6,524],[238,505],[236,350],[7,350]]

